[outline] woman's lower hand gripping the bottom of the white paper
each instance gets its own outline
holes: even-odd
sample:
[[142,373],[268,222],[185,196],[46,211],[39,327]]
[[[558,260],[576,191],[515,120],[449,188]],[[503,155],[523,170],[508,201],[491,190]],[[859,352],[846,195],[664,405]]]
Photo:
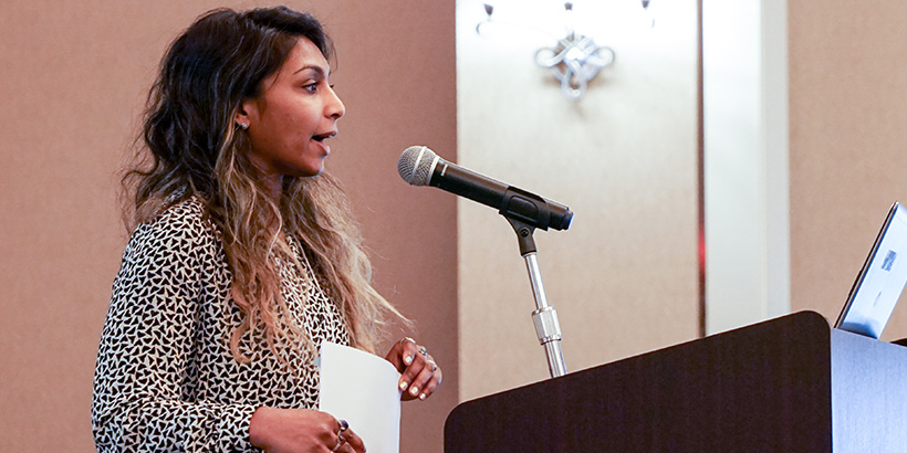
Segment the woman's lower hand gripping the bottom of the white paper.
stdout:
[[249,423],[249,441],[267,453],[365,453],[346,422],[311,409],[261,407]]

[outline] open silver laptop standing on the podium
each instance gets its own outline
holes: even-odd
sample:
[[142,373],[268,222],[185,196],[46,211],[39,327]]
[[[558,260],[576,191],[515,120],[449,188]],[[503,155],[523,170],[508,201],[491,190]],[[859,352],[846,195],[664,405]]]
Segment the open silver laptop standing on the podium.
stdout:
[[892,204],[873,250],[851,288],[835,328],[882,336],[907,283],[907,208]]

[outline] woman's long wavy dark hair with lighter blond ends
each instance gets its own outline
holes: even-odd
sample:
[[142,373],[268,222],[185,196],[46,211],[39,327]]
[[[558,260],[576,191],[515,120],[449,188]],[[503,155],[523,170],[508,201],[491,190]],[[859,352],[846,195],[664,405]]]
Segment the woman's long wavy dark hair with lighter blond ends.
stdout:
[[273,200],[249,159],[247,134],[234,125],[242,101],[262,93],[262,81],[302,38],[330,59],[332,44],[321,23],[285,7],[218,9],[198,18],[161,61],[148,95],[140,161],[123,177],[129,230],[186,199],[204,201],[221,234],[230,293],[243,315],[230,338],[240,362],[249,360],[243,338],[261,330],[279,358],[280,337],[314,350],[281,296],[278,262],[303,271],[288,234],[302,242],[315,284],[337,305],[354,347],[374,352],[388,315],[406,322],[371,285],[371,264],[338,182],[327,173],[284,177],[282,198]]

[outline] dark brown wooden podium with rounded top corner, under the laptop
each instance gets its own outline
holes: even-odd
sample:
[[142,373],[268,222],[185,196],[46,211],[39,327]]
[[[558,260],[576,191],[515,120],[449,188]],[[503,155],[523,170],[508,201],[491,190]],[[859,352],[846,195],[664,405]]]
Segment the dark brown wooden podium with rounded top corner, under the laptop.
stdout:
[[907,348],[802,312],[467,401],[445,453],[907,452]]

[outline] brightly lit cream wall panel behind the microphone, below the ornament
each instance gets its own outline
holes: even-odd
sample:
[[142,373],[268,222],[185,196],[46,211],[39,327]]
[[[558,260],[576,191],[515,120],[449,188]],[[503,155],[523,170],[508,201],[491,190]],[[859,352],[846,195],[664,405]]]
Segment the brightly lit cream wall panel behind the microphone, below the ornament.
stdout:
[[[567,370],[695,338],[697,2],[660,2],[651,29],[638,3],[577,2],[577,31],[617,56],[575,103],[533,62],[556,42],[528,30],[563,32],[560,3],[501,8],[523,27],[480,36],[481,3],[458,2],[459,162],[575,212],[570,230],[535,233]],[[513,230],[493,209],[458,210],[461,398],[546,379]]]

